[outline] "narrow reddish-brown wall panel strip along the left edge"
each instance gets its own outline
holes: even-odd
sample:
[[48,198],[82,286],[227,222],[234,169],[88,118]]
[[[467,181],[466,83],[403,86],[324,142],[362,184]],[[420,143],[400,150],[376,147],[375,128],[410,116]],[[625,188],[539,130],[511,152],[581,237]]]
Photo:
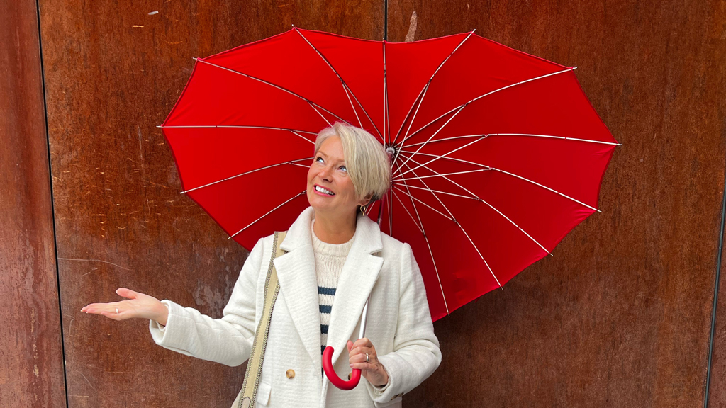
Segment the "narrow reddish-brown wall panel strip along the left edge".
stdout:
[[35,1],[0,13],[0,406],[65,407]]

